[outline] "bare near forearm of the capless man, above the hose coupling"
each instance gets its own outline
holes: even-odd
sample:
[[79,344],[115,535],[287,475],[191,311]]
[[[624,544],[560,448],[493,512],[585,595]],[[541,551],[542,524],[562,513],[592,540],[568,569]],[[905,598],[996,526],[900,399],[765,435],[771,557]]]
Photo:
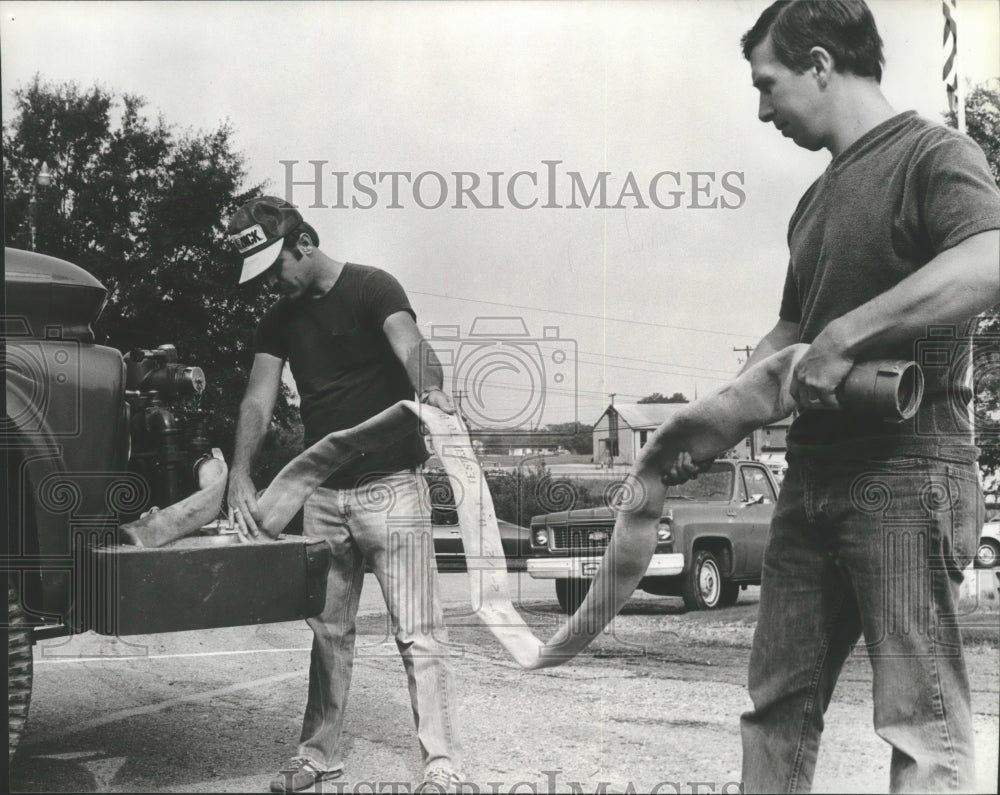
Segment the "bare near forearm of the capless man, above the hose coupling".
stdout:
[[864,361],[923,336],[929,325],[963,323],[998,302],[1000,231],[994,231],[942,252],[892,289],[831,322],[820,336],[846,356]]

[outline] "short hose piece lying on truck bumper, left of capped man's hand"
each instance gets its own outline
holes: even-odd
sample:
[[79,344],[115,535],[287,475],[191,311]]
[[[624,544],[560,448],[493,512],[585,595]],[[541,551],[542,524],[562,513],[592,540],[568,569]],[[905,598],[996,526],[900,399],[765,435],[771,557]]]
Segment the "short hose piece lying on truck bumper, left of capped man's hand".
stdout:
[[218,449],[195,464],[198,491],[173,505],[149,511],[120,528],[122,540],[139,547],[162,547],[191,535],[217,518],[229,469]]

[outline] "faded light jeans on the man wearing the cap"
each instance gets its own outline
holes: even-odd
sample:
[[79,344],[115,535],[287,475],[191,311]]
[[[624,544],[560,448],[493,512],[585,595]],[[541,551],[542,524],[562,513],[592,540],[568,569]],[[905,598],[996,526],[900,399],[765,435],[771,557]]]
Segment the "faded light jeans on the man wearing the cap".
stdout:
[[299,756],[324,770],[344,767],[341,732],[367,560],[382,588],[403,659],[424,767],[457,770],[455,690],[426,481],[408,470],[357,489],[319,488],[304,514],[304,535],[326,541],[333,563],[323,612],[308,620],[313,646]]

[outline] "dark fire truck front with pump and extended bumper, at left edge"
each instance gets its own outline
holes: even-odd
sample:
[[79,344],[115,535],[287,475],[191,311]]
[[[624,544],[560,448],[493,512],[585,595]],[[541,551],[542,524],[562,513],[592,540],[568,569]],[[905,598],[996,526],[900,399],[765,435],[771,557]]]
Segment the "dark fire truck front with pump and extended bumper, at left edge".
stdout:
[[108,291],[71,262],[5,248],[4,286],[13,757],[36,641],[307,618],[323,608],[332,553],[315,539],[239,544],[199,528],[167,546],[126,543],[124,524],[197,488],[193,469],[212,451],[185,401],[204,390],[205,374],[170,345],[123,355],[97,344]]

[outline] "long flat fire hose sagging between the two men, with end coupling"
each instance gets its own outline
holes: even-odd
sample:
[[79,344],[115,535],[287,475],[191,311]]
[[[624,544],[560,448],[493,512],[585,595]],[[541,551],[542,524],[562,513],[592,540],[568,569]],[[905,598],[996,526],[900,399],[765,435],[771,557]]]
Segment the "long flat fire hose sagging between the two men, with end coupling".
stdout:
[[[793,345],[759,362],[656,430],[614,506],[614,532],[586,598],[548,643],[534,636],[511,603],[493,501],[457,417],[401,401],[354,428],[331,433],[278,473],[258,501],[258,523],[276,537],[332,470],[391,444],[409,429],[412,412],[427,426],[455,493],[462,495],[456,507],[466,554],[486,567],[469,572],[476,614],[524,668],[559,665],[604,631],[645,575],[666,497],[661,477],[678,454],[687,452],[694,461],[715,458],[757,428],[791,414],[792,370],[808,347]],[[920,369],[912,363],[868,362],[845,379],[840,399],[850,410],[898,421],[916,412],[922,392]]]

